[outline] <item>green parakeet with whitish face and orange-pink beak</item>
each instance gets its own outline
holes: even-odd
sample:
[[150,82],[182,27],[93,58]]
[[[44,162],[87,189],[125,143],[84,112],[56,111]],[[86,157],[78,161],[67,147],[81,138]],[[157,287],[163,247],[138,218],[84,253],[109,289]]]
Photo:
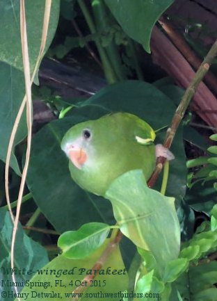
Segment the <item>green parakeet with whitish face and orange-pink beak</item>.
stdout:
[[156,163],[155,133],[147,122],[129,113],[111,113],[74,125],[61,148],[70,159],[72,179],[96,195],[104,195],[124,172],[142,169],[149,179]]

